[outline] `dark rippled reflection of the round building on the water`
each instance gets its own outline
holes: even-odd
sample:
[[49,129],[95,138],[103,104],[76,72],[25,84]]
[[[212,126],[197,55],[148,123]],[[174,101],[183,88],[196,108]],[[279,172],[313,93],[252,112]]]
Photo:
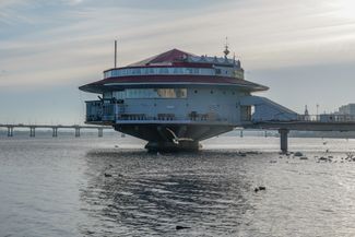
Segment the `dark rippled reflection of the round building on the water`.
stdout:
[[[236,234],[244,214],[252,208],[242,194],[250,189],[240,171],[242,159],[240,166],[230,165],[234,153],[152,156],[133,151],[88,152],[88,186],[81,199],[96,221],[109,220],[113,225],[109,233],[96,233],[91,226],[83,227],[84,233]],[[176,225],[191,228],[177,232]]]

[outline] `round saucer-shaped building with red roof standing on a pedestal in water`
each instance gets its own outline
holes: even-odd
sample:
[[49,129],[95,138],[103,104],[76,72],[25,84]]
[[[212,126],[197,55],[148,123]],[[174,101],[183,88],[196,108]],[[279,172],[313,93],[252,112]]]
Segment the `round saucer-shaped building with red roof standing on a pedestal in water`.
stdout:
[[[279,105],[251,96],[268,87],[246,81],[240,61],[227,55],[227,48],[220,58],[173,49],[106,70],[103,80],[80,87],[99,94],[99,100],[86,102],[86,123],[143,139],[150,151],[175,151],[198,150],[199,141],[252,119],[282,119],[272,111]],[[260,102],[269,107],[259,107],[252,117]]]

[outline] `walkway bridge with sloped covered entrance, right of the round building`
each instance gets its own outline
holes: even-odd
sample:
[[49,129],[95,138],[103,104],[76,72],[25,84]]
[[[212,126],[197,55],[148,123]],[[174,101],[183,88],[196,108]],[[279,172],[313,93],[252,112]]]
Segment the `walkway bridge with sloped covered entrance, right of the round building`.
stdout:
[[279,130],[280,146],[287,153],[287,138],[291,130],[295,131],[355,131],[355,116],[344,114],[299,115],[282,105],[260,96],[246,96],[241,105],[252,106],[255,112],[245,129]]

